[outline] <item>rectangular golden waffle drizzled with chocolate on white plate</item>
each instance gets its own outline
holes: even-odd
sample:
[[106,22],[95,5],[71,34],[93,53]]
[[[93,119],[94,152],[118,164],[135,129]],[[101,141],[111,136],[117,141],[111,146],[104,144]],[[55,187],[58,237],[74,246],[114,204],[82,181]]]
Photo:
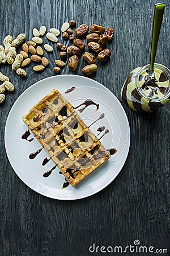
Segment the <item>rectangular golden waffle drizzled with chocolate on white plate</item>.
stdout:
[[111,157],[57,89],[33,106],[23,121],[73,186]]

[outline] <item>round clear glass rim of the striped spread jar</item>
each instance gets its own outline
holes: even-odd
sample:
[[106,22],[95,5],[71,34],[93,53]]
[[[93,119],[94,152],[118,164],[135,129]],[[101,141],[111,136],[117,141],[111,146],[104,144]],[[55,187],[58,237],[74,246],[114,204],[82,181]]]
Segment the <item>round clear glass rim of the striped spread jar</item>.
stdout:
[[146,69],[149,69],[149,67],[150,67],[150,65],[147,64],[144,67],[142,67],[141,69],[139,69],[139,71],[137,72],[137,76],[135,77],[135,83],[137,85],[137,89],[138,89],[139,94],[141,94],[141,96],[146,98],[147,100],[153,101],[153,102],[154,101],[159,102],[159,101],[166,100],[170,96],[170,71],[164,65],[159,64],[159,63],[155,63],[154,64],[154,69],[156,69],[156,68],[161,69],[165,73],[165,75],[167,76],[167,78],[169,80],[169,92],[167,94],[165,94],[162,98],[151,98],[151,97],[148,97],[145,93],[143,93],[141,87],[139,86],[139,83],[138,83],[139,82],[139,76],[141,75],[142,71],[145,71]]

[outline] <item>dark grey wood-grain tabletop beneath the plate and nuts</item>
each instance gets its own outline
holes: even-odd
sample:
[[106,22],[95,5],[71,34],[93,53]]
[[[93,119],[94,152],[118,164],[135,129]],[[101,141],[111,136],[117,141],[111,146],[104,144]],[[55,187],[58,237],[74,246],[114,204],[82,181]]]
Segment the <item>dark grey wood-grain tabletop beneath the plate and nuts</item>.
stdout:
[[[96,75],[91,78],[104,84],[121,101],[120,89],[128,73],[149,61],[154,3],[154,0],[2,0],[0,43],[6,35],[15,38],[20,32],[25,32],[26,40],[29,40],[34,27],[44,24],[48,30],[50,27],[60,28],[70,19],[75,19],[78,25],[112,26],[115,35],[109,45],[111,60],[99,64]],[[168,3],[156,55],[156,62],[167,67],[170,64],[169,19]],[[25,78],[18,77],[9,65],[0,67],[0,71],[15,84],[15,92],[6,93],[6,101],[0,106],[0,255],[103,255],[101,252],[90,253],[88,248],[93,243],[100,247],[133,246],[134,240],[139,240],[143,246],[169,252],[170,105],[145,115],[133,112],[122,103],[131,130],[128,159],[116,179],[96,195],[75,201],[49,199],[28,188],[12,170],[4,144],[7,115],[25,89],[54,75],[54,60],[58,57],[56,49],[53,54],[45,53],[45,56],[50,59],[49,67],[37,74],[31,64],[25,69],[28,73]],[[75,75],[82,75],[83,65],[84,61],[80,59]],[[61,73],[72,72],[66,67]]]

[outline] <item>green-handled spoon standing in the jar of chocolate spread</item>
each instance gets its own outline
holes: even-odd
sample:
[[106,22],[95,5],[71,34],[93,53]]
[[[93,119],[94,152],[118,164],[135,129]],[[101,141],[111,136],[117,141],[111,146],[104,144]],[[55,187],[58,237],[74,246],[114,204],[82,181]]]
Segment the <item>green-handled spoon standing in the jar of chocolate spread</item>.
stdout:
[[154,69],[156,49],[158,46],[159,33],[162,25],[162,19],[165,9],[165,3],[156,3],[154,12],[154,21],[152,27],[152,43],[151,43],[151,56],[150,56],[150,68],[149,68],[149,78],[152,75]]

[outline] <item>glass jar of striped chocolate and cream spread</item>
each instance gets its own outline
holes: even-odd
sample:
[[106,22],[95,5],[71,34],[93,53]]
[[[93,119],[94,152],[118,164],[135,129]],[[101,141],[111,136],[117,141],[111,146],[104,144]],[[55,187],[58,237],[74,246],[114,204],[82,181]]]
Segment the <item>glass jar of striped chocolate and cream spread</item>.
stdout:
[[170,101],[170,71],[155,63],[151,79],[148,79],[149,65],[135,68],[121,89],[122,100],[130,109],[150,113]]

